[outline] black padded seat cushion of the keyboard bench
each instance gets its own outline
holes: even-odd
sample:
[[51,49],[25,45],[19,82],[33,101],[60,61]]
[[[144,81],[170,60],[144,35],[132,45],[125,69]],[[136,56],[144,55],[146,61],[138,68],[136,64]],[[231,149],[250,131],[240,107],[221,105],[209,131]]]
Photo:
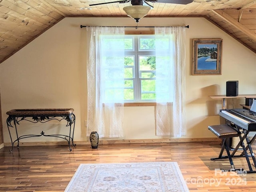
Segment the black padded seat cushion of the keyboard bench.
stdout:
[[230,138],[240,136],[240,132],[237,132],[232,126],[228,124],[212,125],[208,126],[208,130],[213,132],[218,138]]

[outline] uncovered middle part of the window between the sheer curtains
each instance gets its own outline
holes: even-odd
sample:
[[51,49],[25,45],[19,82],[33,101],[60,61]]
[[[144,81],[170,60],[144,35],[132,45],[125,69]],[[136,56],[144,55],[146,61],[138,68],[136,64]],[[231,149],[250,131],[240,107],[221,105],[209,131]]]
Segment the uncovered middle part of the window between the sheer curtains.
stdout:
[[126,102],[156,100],[156,57],[154,36],[127,36],[124,58]]

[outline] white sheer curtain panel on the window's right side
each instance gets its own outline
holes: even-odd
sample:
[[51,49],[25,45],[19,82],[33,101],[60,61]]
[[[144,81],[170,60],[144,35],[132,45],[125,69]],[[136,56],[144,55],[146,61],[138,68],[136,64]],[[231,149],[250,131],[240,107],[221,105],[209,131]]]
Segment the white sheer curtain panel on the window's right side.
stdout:
[[[156,135],[158,136],[181,137],[186,134],[185,34],[185,27],[155,27]],[[164,46],[167,42],[169,49]]]

